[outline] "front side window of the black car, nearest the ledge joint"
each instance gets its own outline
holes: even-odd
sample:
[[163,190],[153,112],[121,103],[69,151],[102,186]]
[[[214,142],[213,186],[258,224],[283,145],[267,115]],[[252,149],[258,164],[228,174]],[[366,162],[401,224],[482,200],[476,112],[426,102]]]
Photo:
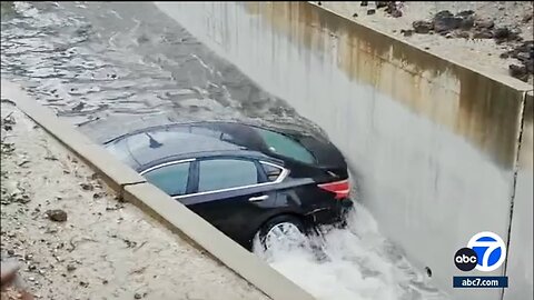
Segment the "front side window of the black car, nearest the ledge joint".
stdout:
[[187,192],[190,162],[165,166],[144,174],[148,182],[170,196],[181,196]]

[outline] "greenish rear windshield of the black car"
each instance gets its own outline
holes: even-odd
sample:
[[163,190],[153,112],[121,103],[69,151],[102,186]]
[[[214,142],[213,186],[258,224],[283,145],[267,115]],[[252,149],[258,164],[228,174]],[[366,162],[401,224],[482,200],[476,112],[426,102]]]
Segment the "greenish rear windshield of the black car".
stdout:
[[291,158],[305,163],[315,163],[315,157],[296,140],[281,133],[256,128],[269,150],[274,153]]

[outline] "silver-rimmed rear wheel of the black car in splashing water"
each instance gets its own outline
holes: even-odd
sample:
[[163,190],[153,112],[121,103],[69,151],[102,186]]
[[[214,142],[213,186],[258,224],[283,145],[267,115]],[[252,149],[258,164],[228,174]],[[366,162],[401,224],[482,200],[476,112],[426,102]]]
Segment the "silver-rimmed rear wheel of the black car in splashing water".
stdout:
[[[296,232],[298,230],[298,233]],[[258,231],[259,241],[264,250],[270,248],[273,239],[299,238],[293,234],[306,236],[303,221],[289,214],[277,216],[269,219]]]

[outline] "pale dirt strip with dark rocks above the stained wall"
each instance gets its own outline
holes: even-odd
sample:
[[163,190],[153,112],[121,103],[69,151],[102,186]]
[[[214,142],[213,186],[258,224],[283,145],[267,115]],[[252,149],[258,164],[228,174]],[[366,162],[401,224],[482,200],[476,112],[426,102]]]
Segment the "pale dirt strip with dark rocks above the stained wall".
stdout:
[[475,70],[533,83],[532,1],[328,1],[320,6]]

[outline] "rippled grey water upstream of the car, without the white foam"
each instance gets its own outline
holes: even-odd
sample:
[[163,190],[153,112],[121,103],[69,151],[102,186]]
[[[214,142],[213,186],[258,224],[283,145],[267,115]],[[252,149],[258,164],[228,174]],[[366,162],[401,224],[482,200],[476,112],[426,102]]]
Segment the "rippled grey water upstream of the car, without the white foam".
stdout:
[[2,10],[2,78],[23,81],[97,140],[187,120],[315,128],[151,3],[18,2]]

